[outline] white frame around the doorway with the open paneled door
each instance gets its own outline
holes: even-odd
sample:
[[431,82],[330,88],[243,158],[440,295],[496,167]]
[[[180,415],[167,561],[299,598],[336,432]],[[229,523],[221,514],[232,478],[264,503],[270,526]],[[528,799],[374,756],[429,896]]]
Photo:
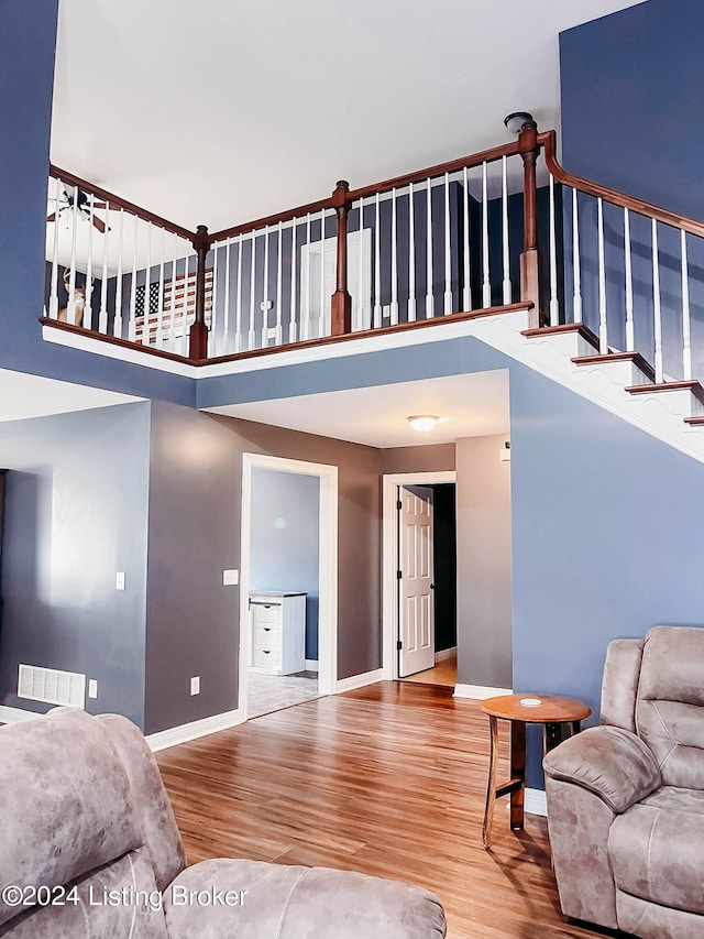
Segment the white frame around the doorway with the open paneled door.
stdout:
[[382,477],[382,678],[398,678],[398,525],[396,524],[396,487],[432,485],[458,481],[455,470],[439,472],[396,472]]

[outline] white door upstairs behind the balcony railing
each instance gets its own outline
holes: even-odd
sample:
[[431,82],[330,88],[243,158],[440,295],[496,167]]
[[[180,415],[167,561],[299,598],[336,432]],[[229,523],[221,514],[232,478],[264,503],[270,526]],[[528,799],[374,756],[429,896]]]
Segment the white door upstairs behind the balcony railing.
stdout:
[[[337,238],[326,238],[324,244],[314,241],[300,250],[300,339],[330,336],[337,263]],[[372,230],[369,228],[362,229],[361,239],[359,231],[348,233],[348,293],[352,297],[352,331],[369,329],[372,309]]]

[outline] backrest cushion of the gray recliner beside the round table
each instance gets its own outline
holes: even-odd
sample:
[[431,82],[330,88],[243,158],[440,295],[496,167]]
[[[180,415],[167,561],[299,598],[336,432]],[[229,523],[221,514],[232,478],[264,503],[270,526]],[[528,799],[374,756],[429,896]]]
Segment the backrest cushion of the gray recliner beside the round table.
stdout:
[[660,766],[664,785],[702,785],[704,629],[650,630],[642,653],[636,725]]

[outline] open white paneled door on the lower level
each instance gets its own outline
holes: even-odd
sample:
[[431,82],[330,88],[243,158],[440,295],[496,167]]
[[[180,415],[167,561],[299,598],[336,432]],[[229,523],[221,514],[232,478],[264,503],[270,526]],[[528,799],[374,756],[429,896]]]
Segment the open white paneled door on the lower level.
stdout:
[[404,678],[435,665],[436,625],[432,583],[432,489],[400,489],[398,675]]

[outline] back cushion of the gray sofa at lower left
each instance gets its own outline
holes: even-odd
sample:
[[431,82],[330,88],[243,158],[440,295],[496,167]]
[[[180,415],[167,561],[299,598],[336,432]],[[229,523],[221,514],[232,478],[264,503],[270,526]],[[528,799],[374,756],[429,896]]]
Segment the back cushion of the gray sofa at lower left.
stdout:
[[[0,729],[0,818],[3,885],[64,885],[142,844],[120,757],[74,709]],[[0,899],[0,925],[18,911]]]

